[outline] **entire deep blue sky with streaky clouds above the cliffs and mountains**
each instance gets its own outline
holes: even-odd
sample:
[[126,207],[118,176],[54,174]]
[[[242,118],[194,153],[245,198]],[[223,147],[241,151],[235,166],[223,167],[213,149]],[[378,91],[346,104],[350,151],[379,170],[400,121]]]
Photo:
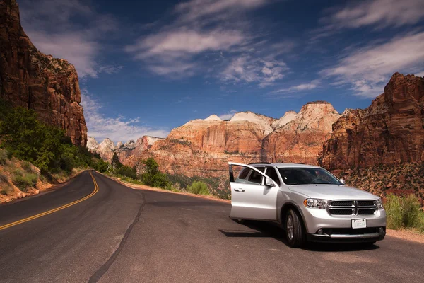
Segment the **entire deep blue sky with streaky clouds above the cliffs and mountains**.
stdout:
[[35,46],[76,66],[88,134],[165,137],[211,114],[365,108],[424,75],[422,0],[21,0]]

